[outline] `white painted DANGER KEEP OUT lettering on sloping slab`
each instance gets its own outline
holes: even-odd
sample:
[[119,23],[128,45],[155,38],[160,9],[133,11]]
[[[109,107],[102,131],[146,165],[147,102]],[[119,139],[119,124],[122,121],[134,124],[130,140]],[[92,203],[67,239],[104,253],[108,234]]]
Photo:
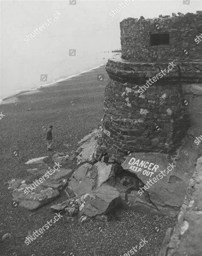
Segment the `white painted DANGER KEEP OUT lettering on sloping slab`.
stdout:
[[144,160],[140,160],[136,158],[130,158],[130,161],[128,162],[130,164],[129,170],[132,170],[131,173],[139,173],[143,170],[142,174],[145,176],[152,176],[156,170],[159,168],[158,164],[153,164]]

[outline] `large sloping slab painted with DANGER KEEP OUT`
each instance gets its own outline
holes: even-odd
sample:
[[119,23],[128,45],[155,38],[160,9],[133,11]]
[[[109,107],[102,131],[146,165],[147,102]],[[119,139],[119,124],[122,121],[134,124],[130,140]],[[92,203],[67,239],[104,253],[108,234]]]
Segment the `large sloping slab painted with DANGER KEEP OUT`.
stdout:
[[124,170],[135,173],[144,182],[144,188],[140,189],[139,194],[147,191],[151,202],[162,214],[168,216],[176,216],[178,213],[191,178],[191,174],[180,170],[179,166],[179,161],[173,163],[167,159],[167,155],[159,153],[131,153],[121,164]]

